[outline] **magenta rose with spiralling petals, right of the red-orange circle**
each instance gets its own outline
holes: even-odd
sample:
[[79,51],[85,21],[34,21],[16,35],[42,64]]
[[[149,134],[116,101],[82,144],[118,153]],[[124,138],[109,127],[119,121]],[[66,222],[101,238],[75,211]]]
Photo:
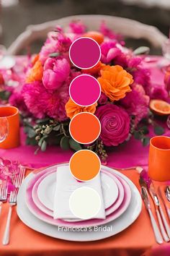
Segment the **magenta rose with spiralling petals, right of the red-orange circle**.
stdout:
[[114,104],[99,106],[96,116],[101,123],[100,137],[107,146],[117,146],[124,142],[130,132],[128,113]]

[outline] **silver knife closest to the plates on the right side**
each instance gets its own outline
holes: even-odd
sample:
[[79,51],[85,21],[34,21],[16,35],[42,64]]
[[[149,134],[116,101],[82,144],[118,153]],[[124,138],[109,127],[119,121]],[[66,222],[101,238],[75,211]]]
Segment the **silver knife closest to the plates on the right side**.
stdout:
[[162,244],[164,241],[163,241],[161,233],[158,229],[158,225],[156,223],[156,220],[153,217],[153,213],[151,211],[151,204],[150,204],[150,201],[149,201],[148,192],[147,192],[146,187],[141,187],[141,194],[142,194],[143,201],[146,205],[146,209],[148,210],[148,214],[149,214],[150,219],[151,219],[151,224],[152,224],[152,228],[153,228],[153,233],[154,233],[155,238],[156,238],[156,242],[158,244]]

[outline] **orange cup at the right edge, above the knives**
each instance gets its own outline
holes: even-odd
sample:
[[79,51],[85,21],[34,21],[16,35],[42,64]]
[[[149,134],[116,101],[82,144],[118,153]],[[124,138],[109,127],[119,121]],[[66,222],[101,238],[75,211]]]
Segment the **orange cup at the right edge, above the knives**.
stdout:
[[148,174],[158,182],[170,181],[170,137],[151,138]]

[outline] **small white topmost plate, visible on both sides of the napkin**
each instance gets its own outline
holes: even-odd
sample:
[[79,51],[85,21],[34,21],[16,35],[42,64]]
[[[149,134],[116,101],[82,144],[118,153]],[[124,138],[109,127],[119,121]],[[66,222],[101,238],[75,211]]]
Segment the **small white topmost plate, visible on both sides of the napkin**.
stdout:
[[[42,179],[37,187],[37,197],[42,205],[53,211],[54,193],[55,193],[56,173],[49,174]],[[112,177],[101,173],[102,193],[104,200],[104,208],[109,208],[117,200],[119,190],[117,184]]]

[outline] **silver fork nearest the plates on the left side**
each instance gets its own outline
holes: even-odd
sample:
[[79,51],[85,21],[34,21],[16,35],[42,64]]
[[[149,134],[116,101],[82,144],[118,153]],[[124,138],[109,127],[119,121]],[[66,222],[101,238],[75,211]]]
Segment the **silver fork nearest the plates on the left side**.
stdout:
[[25,173],[25,168],[21,168],[19,171],[19,174],[14,176],[13,183],[16,189],[14,191],[10,192],[9,195],[9,213],[6,221],[6,227],[4,231],[4,236],[2,239],[2,244],[6,245],[9,244],[9,234],[10,234],[10,222],[11,222],[11,217],[12,217],[12,208],[14,205],[17,205],[17,194],[19,191],[19,187],[22,184],[22,180],[24,179],[24,173]]

